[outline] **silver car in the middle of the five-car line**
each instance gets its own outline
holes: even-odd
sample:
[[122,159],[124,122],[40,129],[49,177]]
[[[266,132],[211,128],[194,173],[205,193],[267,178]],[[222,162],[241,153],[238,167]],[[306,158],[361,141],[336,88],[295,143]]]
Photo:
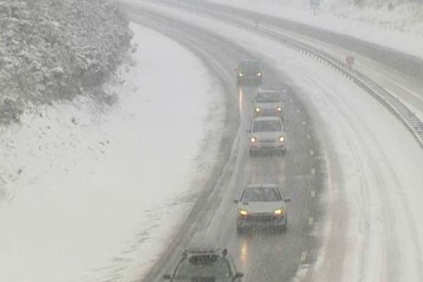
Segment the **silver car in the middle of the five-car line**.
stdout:
[[254,118],[249,133],[251,157],[259,152],[286,152],[286,129],[278,116]]

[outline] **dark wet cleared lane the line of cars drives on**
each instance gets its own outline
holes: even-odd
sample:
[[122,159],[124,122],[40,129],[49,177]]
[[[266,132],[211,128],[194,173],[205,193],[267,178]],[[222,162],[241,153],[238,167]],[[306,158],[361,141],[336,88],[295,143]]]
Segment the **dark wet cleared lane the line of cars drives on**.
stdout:
[[[236,44],[211,32],[161,18],[151,11],[131,7],[127,12],[135,23],[164,33],[194,51],[197,56],[202,53],[200,59],[204,59],[204,63],[217,75],[228,75],[232,80],[232,86],[226,85],[226,91],[232,97],[228,101],[235,99],[238,105],[237,116],[232,118],[239,118],[239,121],[235,121],[239,127],[231,157],[221,176],[214,176],[216,185],[213,191],[200,198],[201,208],[188,219],[190,228],[176,234],[178,243],[173,245],[171,252],[166,252],[166,258],[146,276],[145,281],[160,281],[161,274],[173,269],[182,250],[198,234],[212,235],[216,244],[228,247],[235,262],[245,272],[244,281],[289,281],[301,264],[312,262],[314,257],[304,254],[313,254],[318,244],[310,232],[313,223],[319,221],[316,215],[319,214],[318,195],[323,185],[323,166],[317,157],[319,145],[314,141],[312,122],[304,106],[295,95],[287,99],[286,121],[290,129],[288,154],[285,157],[251,159],[248,156],[245,130],[250,127],[250,100],[257,89],[244,87],[236,90],[233,68],[242,59],[259,55],[248,54]],[[272,71],[271,66],[265,66],[265,69],[264,88],[281,90],[289,84],[287,78],[280,72]],[[310,151],[314,154],[310,154]],[[286,195],[291,197],[288,231],[238,235],[235,232],[233,199],[247,183],[262,181],[280,184]],[[312,197],[312,191],[316,191],[317,197]]]

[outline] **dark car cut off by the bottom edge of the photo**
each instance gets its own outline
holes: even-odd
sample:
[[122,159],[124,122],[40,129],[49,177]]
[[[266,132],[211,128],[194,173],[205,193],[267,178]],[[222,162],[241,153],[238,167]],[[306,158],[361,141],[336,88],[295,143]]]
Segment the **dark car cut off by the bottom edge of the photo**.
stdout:
[[170,281],[241,282],[243,276],[224,249],[185,250],[173,274],[163,277]]

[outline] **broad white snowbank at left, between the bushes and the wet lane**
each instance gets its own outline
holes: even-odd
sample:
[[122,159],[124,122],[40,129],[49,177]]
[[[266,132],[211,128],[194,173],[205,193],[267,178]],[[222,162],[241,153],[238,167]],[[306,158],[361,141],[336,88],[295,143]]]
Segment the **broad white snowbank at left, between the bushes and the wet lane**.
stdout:
[[0,281],[133,281],[195,200],[201,151],[213,156],[223,123],[224,109],[209,109],[222,109],[223,92],[178,44],[132,29],[137,52],[109,85],[115,106],[80,97],[1,127]]

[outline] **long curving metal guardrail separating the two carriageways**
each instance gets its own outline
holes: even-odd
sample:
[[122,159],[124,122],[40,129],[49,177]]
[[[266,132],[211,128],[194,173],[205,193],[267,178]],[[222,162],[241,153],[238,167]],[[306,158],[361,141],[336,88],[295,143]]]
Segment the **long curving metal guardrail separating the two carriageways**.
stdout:
[[374,99],[376,99],[384,108],[386,108],[393,116],[395,116],[398,121],[403,123],[407,130],[415,137],[415,140],[419,143],[419,146],[423,149],[423,122],[413,113],[410,109],[403,104],[398,98],[396,98],[391,92],[386,90],[384,87],[376,83],[372,78],[369,78],[367,75],[360,73],[355,69],[349,69],[346,64],[336,58],[327,54],[325,51],[313,47],[304,42],[300,42],[292,37],[286,35],[281,35],[280,33],[270,30],[266,27],[257,25],[256,23],[250,22],[248,19],[240,19],[235,17],[229,17],[226,15],[221,15],[214,11],[209,11],[202,8],[199,5],[184,5],[182,2],[173,2],[168,0],[149,0],[155,4],[164,4],[166,6],[172,6],[173,8],[178,8],[179,10],[196,14],[197,16],[202,16],[203,18],[209,18],[211,20],[216,20],[221,23],[226,23],[228,25],[233,25],[240,29],[252,32],[255,35],[270,39],[278,44],[282,44],[289,49],[305,54],[312,59],[316,59],[321,63],[324,63],[326,66],[333,68],[341,75],[352,80],[358,87],[362,88],[368,94],[370,94]]

